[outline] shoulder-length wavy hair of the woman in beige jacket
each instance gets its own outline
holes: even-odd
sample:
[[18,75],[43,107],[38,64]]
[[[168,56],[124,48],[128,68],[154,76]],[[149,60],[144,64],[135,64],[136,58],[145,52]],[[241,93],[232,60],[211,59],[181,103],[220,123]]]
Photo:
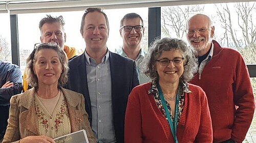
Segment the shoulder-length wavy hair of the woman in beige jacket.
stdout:
[[36,54],[41,49],[53,49],[58,53],[58,58],[62,66],[62,72],[58,79],[58,88],[62,87],[68,81],[67,73],[69,71],[69,66],[68,66],[68,58],[65,51],[63,51],[58,45],[42,43],[32,51],[32,53],[29,55],[27,59],[27,66],[26,66],[25,72],[27,73],[28,77],[26,80],[29,82],[31,87],[38,89],[38,78],[35,75],[33,68],[36,60],[35,59]]

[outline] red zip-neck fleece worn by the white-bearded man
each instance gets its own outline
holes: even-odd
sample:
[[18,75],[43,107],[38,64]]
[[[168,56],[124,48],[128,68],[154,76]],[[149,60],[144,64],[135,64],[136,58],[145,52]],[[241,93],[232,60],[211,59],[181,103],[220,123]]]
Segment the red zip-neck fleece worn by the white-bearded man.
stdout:
[[191,83],[199,85],[207,95],[214,142],[229,138],[242,142],[255,108],[249,73],[238,51],[222,48],[214,40],[212,43],[212,59],[204,67],[201,79],[197,73]]

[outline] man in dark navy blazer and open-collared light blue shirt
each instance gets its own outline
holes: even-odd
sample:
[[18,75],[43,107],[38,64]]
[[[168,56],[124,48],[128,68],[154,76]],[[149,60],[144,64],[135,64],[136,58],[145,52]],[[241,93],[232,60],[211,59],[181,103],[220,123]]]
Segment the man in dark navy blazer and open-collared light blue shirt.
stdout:
[[86,99],[98,142],[124,142],[127,98],[139,84],[136,62],[108,50],[109,21],[100,8],[86,10],[80,33],[86,49],[69,62],[66,88],[82,93]]

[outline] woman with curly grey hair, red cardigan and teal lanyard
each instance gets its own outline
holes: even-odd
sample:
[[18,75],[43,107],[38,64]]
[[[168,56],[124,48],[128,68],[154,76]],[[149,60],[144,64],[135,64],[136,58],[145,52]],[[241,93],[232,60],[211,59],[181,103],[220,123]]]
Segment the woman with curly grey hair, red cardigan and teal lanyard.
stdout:
[[144,60],[152,82],[138,85],[129,96],[125,142],[212,142],[206,95],[187,83],[198,69],[194,50],[182,40],[163,38]]

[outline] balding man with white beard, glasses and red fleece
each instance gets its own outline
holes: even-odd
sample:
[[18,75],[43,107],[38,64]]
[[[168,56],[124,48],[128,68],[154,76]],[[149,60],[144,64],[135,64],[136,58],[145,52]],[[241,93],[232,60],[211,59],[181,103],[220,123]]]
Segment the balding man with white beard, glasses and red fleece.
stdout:
[[203,14],[190,17],[186,37],[197,51],[199,70],[191,83],[206,93],[214,131],[213,142],[242,142],[254,113],[254,97],[242,55],[211,40],[215,27]]

